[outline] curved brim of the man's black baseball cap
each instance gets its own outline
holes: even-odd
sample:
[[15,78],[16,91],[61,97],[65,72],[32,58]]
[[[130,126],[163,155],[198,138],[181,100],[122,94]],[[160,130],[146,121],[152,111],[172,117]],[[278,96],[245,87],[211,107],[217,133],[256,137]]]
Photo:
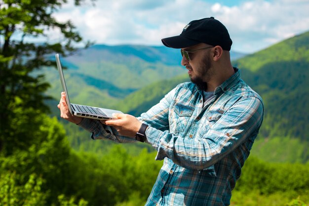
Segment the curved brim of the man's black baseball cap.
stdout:
[[187,39],[182,36],[168,37],[162,39],[161,41],[165,46],[171,48],[186,48],[200,43],[200,41]]

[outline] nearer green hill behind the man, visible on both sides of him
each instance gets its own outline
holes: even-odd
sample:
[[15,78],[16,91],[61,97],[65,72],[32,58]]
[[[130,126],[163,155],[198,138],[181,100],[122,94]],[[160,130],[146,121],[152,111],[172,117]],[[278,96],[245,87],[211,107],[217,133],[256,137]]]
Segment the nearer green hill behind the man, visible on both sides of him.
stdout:
[[[241,69],[243,80],[261,94],[265,103],[264,123],[252,153],[272,162],[307,162],[309,32],[233,61],[233,65]],[[136,91],[125,101],[145,97],[147,101],[131,104],[125,111],[140,115],[156,104],[166,91],[185,80],[183,75]]]

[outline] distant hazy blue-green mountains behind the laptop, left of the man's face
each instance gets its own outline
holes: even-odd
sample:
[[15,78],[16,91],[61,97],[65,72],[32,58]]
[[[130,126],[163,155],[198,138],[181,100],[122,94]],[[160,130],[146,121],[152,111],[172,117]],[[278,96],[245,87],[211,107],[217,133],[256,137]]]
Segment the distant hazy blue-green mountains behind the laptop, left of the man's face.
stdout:
[[[232,52],[232,58],[243,55]],[[133,91],[186,73],[180,61],[179,49],[141,45],[93,45],[61,58],[72,102],[113,109],[121,109],[117,102]],[[59,99],[58,72],[44,68],[43,73],[51,84],[47,93]]]

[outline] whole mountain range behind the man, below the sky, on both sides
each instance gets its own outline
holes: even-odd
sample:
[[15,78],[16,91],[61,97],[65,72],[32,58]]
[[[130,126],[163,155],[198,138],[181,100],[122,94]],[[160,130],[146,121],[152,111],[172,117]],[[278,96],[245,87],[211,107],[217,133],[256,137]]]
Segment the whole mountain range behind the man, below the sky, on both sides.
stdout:
[[[270,162],[309,161],[309,32],[253,54],[231,52],[232,65],[265,105],[252,154]],[[135,116],[178,83],[189,81],[178,49],[94,45],[64,58],[72,101],[110,107]],[[45,68],[49,94],[59,99],[59,76]]]

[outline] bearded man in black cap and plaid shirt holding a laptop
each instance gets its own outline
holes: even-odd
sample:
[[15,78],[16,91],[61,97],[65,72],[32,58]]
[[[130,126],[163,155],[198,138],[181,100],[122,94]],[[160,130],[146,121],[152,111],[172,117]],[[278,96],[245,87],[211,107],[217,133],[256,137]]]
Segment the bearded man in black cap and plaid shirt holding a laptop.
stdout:
[[61,117],[93,139],[142,141],[164,160],[147,206],[228,206],[263,120],[262,98],[240,79],[230,60],[232,40],[213,17],[194,20],[179,36],[162,39],[181,48],[191,82],[181,83],[135,118],[95,121],[72,116],[65,95]]

